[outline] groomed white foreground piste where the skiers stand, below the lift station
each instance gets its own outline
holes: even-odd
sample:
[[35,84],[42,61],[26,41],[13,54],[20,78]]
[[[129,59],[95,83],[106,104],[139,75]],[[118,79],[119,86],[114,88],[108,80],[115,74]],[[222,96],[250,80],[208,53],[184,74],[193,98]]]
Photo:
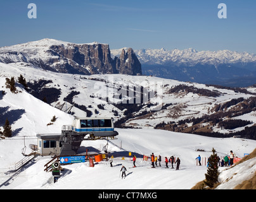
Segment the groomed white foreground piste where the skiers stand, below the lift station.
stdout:
[[[34,164],[26,167],[8,186],[1,186],[1,189],[190,189],[196,182],[202,181],[207,172],[205,166],[196,167],[195,158],[198,154],[208,157],[214,147],[220,156],[233,149],[236,155],[241,157],[244,152],[250,153],[256,143],[253,140],[236,138],[223,140],[152,129],[117,129],[117,131],[118,140],[112,142],[119,145],[122,141],[122,150],[110,143],[108,151],[122,153],[125,160],[121,160],[121,157],[113,158],[114,167],[110,167],[108,162],[96,163],[94,168],[89,167],[88,162],[65,165],[63,166],[65,172],[62,172],[60,179],[54,184],[51,173],[43,171],[44,164],[51,160],[51,157],[37,157]],[[82,146],[92,146],[100,151],[105,144],[105,140],[84,141]],[[197,148],[205,151],[195,151]],[[181,158],[181,169],[170,169],[170,163],[169,169],[165,169],[163,160],[162,168],[150,169],[150,162],[145,162],[141,158],[136,160],[138,167],[131,169],[129,151],[145,155],[154,152],[155,155],[162,155],[162,158],[174,155]],[[128,171],[125,179],[119,177],[121,165],[125,165]],[[220,167],[220,170],[224,168]],[[2,169],[1,182],[9,177],[11,174],[4,175]],[[226,186],[224,189],[230,187]]]

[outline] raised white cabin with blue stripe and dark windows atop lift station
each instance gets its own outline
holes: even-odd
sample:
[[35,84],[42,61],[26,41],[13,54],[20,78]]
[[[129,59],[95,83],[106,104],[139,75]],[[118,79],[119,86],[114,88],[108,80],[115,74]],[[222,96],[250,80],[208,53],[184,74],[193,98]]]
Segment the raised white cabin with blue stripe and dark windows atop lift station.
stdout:
[[72,130],[76,133],[93,134],[94,136],[117,136],[113,119],[110,118],[75,118]]

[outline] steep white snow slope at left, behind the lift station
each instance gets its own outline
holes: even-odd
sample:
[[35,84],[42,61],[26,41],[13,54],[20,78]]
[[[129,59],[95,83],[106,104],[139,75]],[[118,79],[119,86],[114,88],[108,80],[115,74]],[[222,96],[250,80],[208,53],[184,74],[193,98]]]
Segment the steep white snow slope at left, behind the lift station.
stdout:
[[[61,133],[61,126],[70,124],[74,119],[51,105],[45,104],[41,100],[27,93],[23,88],[17,86],[18,93],[11,93],[5,88],[5,78],[0,77],[1,91],[6,92],[0,98],[1,122],[5,122],[6,117],[13,130],[13,137],[0,140],[0,161],[1,167],[10,167],[23,158],[24,148],[23,136],[25,136],[25,146],[37,144],[36,134],[38,133]],[[47,126],[53,116],[57,117],[53,125]],[[3,128],[1,127],[1,131]],[[27,141],[26,139],[29,139]],[[31,151],[28,149],[26,154]]]

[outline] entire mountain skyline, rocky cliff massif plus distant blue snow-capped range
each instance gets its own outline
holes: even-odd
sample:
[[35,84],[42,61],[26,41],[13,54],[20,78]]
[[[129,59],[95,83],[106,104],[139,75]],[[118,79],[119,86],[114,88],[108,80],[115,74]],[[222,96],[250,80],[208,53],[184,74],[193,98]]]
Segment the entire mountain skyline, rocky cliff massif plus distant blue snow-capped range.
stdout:
[[74,74],[129,74],[179,81],[250,86],[256,80],[256,56],[230,50],[198,51],[123,48],[42,39],[0,47],[0,62],[26,62],[37,68]]

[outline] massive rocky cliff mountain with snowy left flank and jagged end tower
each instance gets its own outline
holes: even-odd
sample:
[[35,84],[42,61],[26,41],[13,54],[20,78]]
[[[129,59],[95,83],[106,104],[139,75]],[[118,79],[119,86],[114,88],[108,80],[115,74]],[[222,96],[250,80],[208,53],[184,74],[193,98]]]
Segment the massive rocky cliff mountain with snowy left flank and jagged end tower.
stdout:
[[42,39],[0,48],[0,62],[27,62],[49,71],[72,74],[141,74],[141,63],[129,48],[112,59],[108,44],[73,44]]

